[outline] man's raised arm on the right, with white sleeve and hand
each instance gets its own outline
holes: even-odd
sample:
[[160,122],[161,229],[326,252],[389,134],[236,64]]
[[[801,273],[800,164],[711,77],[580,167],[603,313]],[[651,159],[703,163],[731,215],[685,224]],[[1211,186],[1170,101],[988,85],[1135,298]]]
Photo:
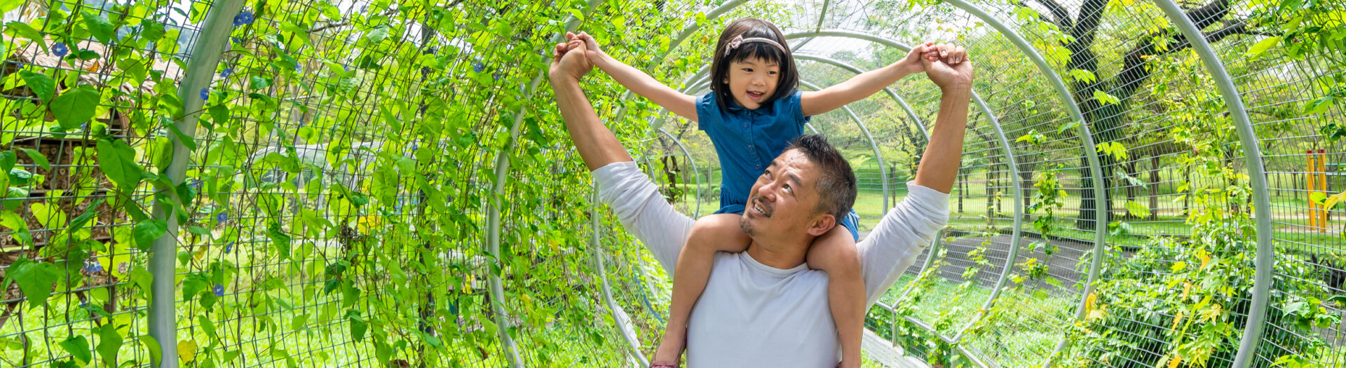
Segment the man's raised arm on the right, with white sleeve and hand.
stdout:
[[915,179],[907,183],[907,197],[888,210],[859,245],[870,305],[915,263],[949,220],[949,191],[962,162],[962,135],[968,128],[972,61],[962,47],[938,44],[935,49],[940,51],[937,59],[922,58],[926,75],[944,94],[930,144],[921,156]]

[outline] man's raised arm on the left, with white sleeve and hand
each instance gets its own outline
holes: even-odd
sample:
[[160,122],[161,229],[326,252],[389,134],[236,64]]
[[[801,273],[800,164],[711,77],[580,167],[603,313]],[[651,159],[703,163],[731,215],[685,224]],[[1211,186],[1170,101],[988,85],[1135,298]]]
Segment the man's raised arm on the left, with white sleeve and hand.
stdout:
[[645,243],[664,270],[673,275],[677,255],[695,221],[664,200],[658,186],[641,173],[612,131],[598,119],[579,84],[594,69],[583,47],[581,40],[557,44],[549,70],[565,129],[584,166],[594,174],[599,201],[611,206],[626,231]]

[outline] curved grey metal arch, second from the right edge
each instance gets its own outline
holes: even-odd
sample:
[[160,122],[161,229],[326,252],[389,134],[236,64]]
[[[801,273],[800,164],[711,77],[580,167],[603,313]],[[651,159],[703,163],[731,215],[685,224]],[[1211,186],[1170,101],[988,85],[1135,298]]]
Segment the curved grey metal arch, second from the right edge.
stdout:
[[[1094,182],[1093,187],[1094,198],[1096,201],[1108,198],[1106,193],[1102,191],[1102,186],[1098,185],[1102,183],[1102,163],[1098,159],[1098,151],[1094,148],[1096,143],[1093,142],[1093,133],[1089,131],[1089,124],[1085,123],[1088,120],[1085,120],[1084,113],[1081,113],[1079,104],[1077,104],[1074,97],[1071,97],[1070,89],[1066,88],[1066,84],[1065,81],[1061,80],[1061,75],[1057,74],[1054,69],[1051,69],[1051,65],[1047,63],[1047,59],[1043,58],[1042,54],[1038,53],[1038,50],[1032,49],[1032,46],[1027,40],[1024,40],[1024,38],[1019,35],[1019,32],[1010,28],[1003,22],[1000,22],[987,11],[981,9],[980,7],[973,5],[965,0],[945,0],[945,3],[949,3],[950,5],[966,11],[973,16],[977,16],[991,27],[996,28],[996,31],[1000,31],[1001,35],[1010,39],[1010,43],[1014,43],[1014,46],[1018,47],[1024,55],[1027,55],[1028,59],[1031,59],[1032,63],[1038,66],[1038,70],[1040,70],[1042,74],[1047,77],[1047,81],[1051,82],[1051,86],[1057,90],[1057,94],[1061,96],[1061,101],[1066,105],[1066,111],[1070,113],[1070,117],[1075,119],[1075,121],[1078,123],[1077,124],[1077,129],[1079,131],[1078,135],[1079,139],[1084,140],[1082,146],[1085,147],[1082,148],[1085,151],[1085,159],[1089,162],[1089,175]],[[1085,302],[1089,299],[1089,294],[1093,294],[1094,282],[1098,280],[1098,268],[1102,266],[1102,257],[1104,257],[1102,251],[1104,245],[1106,244],[1106,233],[1108,233],[1106,213],[1104,213],[1102,210],[1096,210],[1093,260],[1090,260],[1089,264],[1089,279],[1085,282],[1085,290],[1084,293],[1081,293],[1079,303],[1075,306],[1075,317],[1074,317],[1075,321],[1084,319]],[[1069,341],[1070,341],[1069,338],[1061,338],[1061,341],[1057,344],[1057,348],[1053,349],[1050,355],[1047,355],[1047,359],[1043,361],[1042,367],[1051,367],[1055,357],[1059,356],[1061,352],[1066,349]]]

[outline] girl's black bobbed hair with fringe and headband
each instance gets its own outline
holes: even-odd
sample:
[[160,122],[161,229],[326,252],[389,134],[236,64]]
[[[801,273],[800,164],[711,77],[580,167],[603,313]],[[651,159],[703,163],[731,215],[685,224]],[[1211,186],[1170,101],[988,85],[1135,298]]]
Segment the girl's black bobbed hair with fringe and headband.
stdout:
[[[744,42],[738,49],[730,49],[730,40],[735,36],[775,40],[785,51],[765,42]],[[781,66],[775,93],[771,93],[766,101],[762,101],[762,105],[770,104],[777,98],[789,97],[800,89],[800,71],[794,66],[794,57],[790,55],[790,44],[785,43],[785,34],[775,24],[771,24],[771,22],[743,18],[724,27],[724,31],[720,32],[720,40],[715,46],[715,59],[711,61],[711,90],[715,92],[715,100],[720,104],[721,111],[730,109],[730,101],[734,101],[734,94],[725,86],[725,78],[730,75],[730,63],[748,58],[760,58]]]

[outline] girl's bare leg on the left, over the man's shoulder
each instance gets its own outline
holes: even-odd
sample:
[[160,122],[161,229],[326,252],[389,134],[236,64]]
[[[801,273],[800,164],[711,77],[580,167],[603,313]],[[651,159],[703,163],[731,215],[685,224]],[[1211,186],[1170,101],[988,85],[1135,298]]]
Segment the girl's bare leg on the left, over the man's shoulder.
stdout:
[[[664,341],[654,350],[651,364],[677,364],[686,342],[686,318],[692,306],[705,290],[711,279],[711,266],[715,252],[743,252],[752,243],[748,235],[739,229],[740,214],[720,213],[701,217],[686,236],[686,244],[673,267],[673,301],[669,306],[669,324],[664,330]],[[849,236],[849,235],[847,235]],[[852,247],[855,248],[855,247]],[[859,346],[859,345],[857,345]]]

